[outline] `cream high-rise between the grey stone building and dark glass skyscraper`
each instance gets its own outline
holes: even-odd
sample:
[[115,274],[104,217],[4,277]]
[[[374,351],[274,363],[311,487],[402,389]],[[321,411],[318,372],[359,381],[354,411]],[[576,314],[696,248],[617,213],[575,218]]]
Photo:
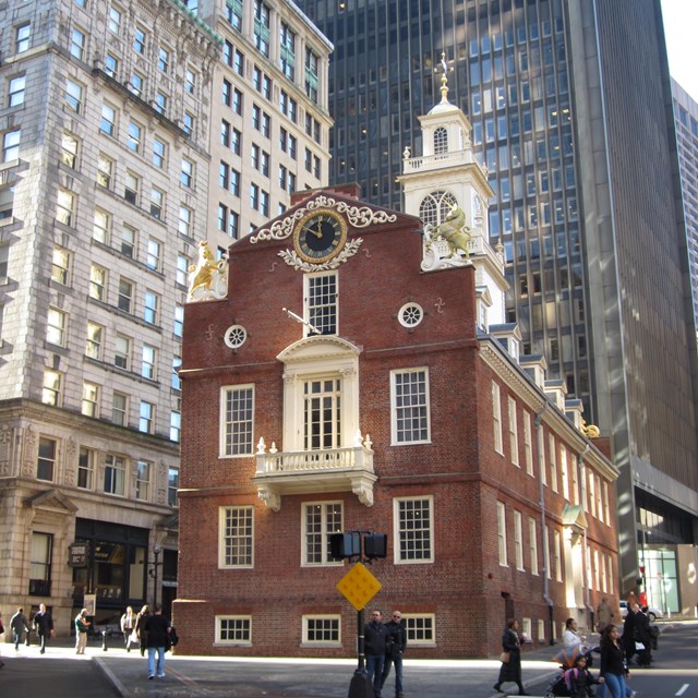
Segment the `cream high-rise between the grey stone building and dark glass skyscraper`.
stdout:
[[221,251],[327,182],[332,45],[293,2],[189,2],[222,38],[210,87],[208,239]]

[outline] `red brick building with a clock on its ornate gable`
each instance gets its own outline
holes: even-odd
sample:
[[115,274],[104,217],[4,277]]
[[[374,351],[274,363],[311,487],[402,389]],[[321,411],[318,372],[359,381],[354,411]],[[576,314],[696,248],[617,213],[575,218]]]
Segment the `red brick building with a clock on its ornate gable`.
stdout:
[[178,651],[352,655],[328,543],[351,529],[388,534],[370,605],[402,611],[411,657],[494,654],[508,616],[549,642],[615,602],[616,470],[516,326],[491,324],[501,260],[449,191],[468,250],[448,256],[443,206],[425,236],[306,192],[230,248],[225,300],[186,306]]

